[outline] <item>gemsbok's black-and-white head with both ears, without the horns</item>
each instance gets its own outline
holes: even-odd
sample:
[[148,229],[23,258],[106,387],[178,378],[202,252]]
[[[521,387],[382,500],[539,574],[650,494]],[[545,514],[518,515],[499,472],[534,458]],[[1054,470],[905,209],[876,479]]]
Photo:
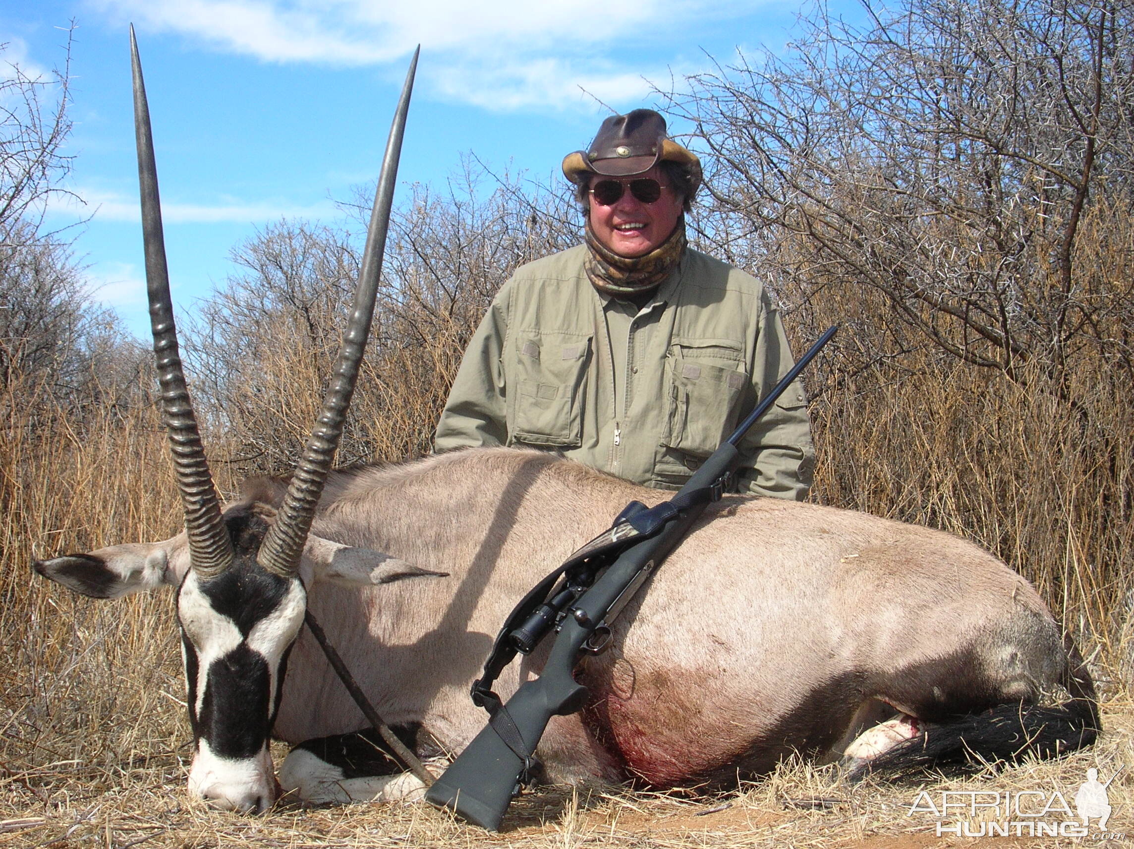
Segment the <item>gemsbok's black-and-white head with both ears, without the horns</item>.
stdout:
[[94,598],[175,588],[194,755],[189,791],[215,807],[262,813],[278,796],[269,753],[287,657],[304,623],[305,587],[375,587],[439,577],[370,548],[308,533],[295,574],[256,562],[276,519],[265,505],[225,511],[232,560],[217,574],[193,569],[188,536],[36,561],[36,572]]

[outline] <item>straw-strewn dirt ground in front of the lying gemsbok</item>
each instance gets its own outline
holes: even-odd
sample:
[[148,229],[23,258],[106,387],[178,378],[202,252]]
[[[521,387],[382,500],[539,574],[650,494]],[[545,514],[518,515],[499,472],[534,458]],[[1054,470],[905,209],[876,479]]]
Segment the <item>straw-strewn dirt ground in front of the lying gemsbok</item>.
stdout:
[[[866,781],[850,787],[833,767],[788,763],[761,781],[713,797],[551,788],[517,799],[494,834],[423,804],[304,808],[284,800],[259,817],[213,812],[185,792],[184,749],[117,768],[57,763],[0,772],[0,847],[1134,846],[1134,705],[1109,703],[1103,721],[1098,745],[1061,760],[913,785]],[[1073,837],[1081,825],[1073,815],[1075,793],[1092,766],[1103,782],[1118,773],[1107,788],[1111,818],[1106,832],[1091,821],[1085,837]],[[1019,797],[1022,814],[1012,807],[1017,793],[1025,793]],[[974,810],[974,799],[997,807]],[[946,802],[951,807],[945,815],[934,815]],[[1006,827],[1009,837],[965,837],[988,833],[989,823],[993,830]],[[1030,835],[1039,827],[1049,833]]]

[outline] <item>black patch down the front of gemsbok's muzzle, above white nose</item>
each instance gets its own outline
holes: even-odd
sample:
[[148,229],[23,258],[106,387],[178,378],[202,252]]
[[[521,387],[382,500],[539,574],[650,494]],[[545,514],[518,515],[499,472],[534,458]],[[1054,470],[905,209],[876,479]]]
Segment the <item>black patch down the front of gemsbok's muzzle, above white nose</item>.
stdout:
[[220,757],[252,757],[271,732],[268,662],[259,652],[240,644],[213,661],[208,675],[197,717],[200,737]]

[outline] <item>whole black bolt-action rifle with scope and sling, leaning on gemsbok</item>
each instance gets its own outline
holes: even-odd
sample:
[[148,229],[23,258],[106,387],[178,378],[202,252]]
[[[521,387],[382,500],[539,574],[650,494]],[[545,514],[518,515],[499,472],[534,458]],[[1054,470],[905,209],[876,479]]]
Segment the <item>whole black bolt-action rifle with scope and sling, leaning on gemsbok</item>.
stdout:
[[[655,507],[632,502],[610,530],[575,552],[516,605],[484,663],[483,678],[473,682],[473,701],[489,712],[489,724],[429,789],[428,801],[489,831],[499,829],[513,797],[539,768],[535,747],[550,718],[586,703],[587,689],[573,674],[579,655],[608,647],[610,623],[705,506],[720,499],[739,465],[741,439],[837,329],[829,328],[811,346],[671,501]],[[543,672],[502,704],[492,683],[517,653],[530,654],[552,629],[558,636]]]

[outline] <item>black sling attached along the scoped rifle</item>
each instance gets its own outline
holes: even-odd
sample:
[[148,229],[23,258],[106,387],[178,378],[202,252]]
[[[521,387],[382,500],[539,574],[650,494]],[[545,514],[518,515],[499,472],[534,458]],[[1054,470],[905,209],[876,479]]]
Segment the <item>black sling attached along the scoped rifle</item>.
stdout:
[[[590,543],[578,548],[564,563],[540,581],[532,590],[517,604],[503,627],[497,634],[496,642],[492,644],[492,652],[489,653],[484,662],[483,676],[473,681],[472,697],[473,704],[483,707],[489,714],[489,725],[503,740],[505,745],[511,749],[521,760],[524,762],[524,772],[521,775],[521,783],[526,783],[531,777],[535,760],[532,757],[535,753],[528,750],[516,723],[508,714],[508,708],[503,701],[492,690],[492,684],[503,672],[505,667],[513,662],[517,655],[516,647],[511,644],[509,634],[518,628],[540,605],[551,598],[560,588],[565,575],[579,566],[598,568],[609,565],[623,549],[648,539],[661,531],[666,522],[677,518],[682,511],[702,504],[718,502],[725,491],[723,480],[718,480],[711,486],[694,489],[685,495],[662,502],[653,507],[646,507],[641,502],[631,502],[615,519],[615,523]],[[592,580],[593,582],[593,580]]]

